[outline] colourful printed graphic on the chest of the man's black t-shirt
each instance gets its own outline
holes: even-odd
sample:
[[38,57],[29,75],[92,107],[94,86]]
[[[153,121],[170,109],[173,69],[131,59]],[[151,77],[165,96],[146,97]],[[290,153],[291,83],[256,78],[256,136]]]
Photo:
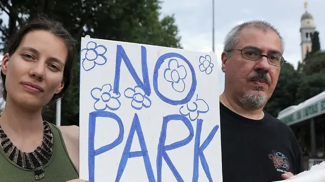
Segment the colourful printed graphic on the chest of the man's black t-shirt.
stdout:
[[268,157],[272,160],[274,167],[277,171],[287,173],[290,169],[290,164],[287,156],[281,152],[272,151]]

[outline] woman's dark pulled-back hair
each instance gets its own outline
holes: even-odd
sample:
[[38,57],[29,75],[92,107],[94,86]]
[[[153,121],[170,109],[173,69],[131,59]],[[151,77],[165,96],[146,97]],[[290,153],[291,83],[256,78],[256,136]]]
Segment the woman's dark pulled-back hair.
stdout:
[[[62,41],[65,42],[65,46],[68,50],[68,56],[65,62],[65,69],[63,72],[63,82],[65,83],[65,86],[63,87],[62,91],[58,94],[55,94],[52,101],[56,101],[63,97],[63,95],[66,92],[66,89],[68,88],[70,82],[71,82],[71,72],[72,72],[72,62],[74,59],[74,46],[76,44],[73,37],[70,35],[70,33],[63,27],[63,25],[57,21],[48,19],[47,17],[43,15],[38,15],[37,18],[33,19],[31,22],[27,23],[25,26],[21,27],[14,35],[12,35],[8,41],[8,44],[6,46],[5,51],[9,53],[9,55],[12,55],[17,48],[19,47],[21,41],[23,40],[24,36],[34,30],[44,30],[52,33],[53,35],[60,38]],[[7,97],[7,91],[5,88],[5,78],[6,76],[2,73],[0,73],[1,81],[2,81],[2,97],[4,101]]]

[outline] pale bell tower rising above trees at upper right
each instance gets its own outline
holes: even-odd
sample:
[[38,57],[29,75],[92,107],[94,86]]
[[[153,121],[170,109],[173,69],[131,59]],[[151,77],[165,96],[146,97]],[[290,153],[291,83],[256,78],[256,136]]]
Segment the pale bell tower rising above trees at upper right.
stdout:
[[305,0],[305,13],[301,16],[301,61],[304,61],[307,52],[311,52],[312,47],[312,35],[315,32],[315,24],[313,16],[307,12],[307,1]]

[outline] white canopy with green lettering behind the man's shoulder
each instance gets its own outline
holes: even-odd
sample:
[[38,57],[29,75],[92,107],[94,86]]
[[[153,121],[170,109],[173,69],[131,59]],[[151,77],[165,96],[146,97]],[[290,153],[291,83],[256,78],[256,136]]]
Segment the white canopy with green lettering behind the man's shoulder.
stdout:
[[289,106],[279,112],[278,119],[287,125],[319,116],[325,113],[325,91],[298,104]]

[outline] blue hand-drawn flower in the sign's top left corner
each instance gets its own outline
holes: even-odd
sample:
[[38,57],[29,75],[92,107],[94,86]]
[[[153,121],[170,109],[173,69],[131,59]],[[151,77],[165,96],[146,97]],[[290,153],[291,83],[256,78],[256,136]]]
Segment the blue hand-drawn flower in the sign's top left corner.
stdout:
[[104,65],[107,62],[107,58],[104,56],[106,51],[105,46],[97,46],[97,43],[93,41],[88,42],[87,48],[82,49],[80,55],[84,70],[89,71],[96,65]]

